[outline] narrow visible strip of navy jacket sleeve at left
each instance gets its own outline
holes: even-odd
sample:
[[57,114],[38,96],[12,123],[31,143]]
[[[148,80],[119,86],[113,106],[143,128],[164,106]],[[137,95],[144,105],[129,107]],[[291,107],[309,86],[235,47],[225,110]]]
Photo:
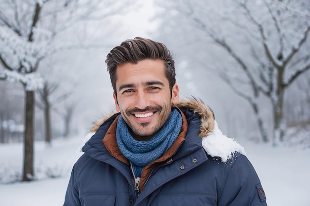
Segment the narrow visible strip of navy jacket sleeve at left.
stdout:
[[63,206],[82,206],[79,199],[79,193],[75,187],[74,166],[71,172]]

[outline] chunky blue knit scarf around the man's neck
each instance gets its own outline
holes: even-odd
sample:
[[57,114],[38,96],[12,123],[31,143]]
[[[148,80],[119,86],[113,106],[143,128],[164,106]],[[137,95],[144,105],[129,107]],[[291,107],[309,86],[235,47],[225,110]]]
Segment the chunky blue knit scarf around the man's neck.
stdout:
[[116,140],[119,150],[131,162],[136,177],[141,177],[143,168],[160,158],[172,146],[179,136],[182,126],[182,116],[173,109],[167,122],[149,141],[135,140],[129,133],[122,116],[119,117],[116,128]]

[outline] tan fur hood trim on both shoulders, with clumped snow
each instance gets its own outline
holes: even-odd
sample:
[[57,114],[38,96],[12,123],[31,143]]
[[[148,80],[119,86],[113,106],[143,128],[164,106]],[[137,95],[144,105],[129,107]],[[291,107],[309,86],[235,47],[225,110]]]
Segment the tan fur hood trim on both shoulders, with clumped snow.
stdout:
[[[244,148],[239,145],[234,139],[223,135],[214,120],[213,111],[202,101],[196,98],[180,100],[177,107],[193,110],[201,119],[200,135],[202,146],[213,158],[221,158],[222,162],[227,162],[235,152],[245,155]],[[109,117],[117,113],[111,112],[98,120],[89,130],[89,134],[85,137],[83,145],[94,135],[101,124]]]

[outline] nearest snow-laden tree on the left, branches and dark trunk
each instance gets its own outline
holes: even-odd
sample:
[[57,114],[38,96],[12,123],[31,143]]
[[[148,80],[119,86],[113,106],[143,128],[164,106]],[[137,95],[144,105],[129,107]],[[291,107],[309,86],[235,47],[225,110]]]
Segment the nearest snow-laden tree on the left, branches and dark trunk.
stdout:
[[43,86],[37,75],[40,62],[59,50],[86,46],[68,41],[74,25],[102,20],[125,9],[128,5],[115,0],[1,1],[0,80],[20,82],[25,91],[23,181],[34,179],[35,90]]

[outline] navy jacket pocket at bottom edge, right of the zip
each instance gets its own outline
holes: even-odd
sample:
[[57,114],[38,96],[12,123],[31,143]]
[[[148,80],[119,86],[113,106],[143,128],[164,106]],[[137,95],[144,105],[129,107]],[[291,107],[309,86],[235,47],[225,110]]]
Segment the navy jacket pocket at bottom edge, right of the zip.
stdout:
[[212,195],[159,194],[156,206],[216,206]]

